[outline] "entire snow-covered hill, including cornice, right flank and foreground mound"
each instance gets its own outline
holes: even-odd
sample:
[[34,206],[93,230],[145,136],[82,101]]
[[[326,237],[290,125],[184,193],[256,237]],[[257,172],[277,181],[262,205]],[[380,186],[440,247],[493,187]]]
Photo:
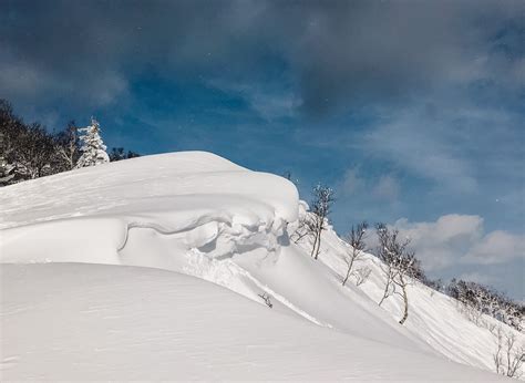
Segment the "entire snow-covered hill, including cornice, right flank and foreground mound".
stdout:
[[300,206],[288,180],[200,152],[0,189],[1,377],[498,379],[446,360],[492,370],[495,349],[447,297],[412,286],[401,327],[372,256],[341,287],[333,230],[319,261],[289,240]]

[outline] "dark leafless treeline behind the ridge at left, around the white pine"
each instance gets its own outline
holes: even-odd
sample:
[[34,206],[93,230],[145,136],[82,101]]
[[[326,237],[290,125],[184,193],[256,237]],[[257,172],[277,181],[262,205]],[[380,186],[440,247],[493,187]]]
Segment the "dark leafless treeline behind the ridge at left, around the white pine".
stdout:
[[[0,100],[0,186],[73,169],[82,154],[78,132],[74,121],[55,133],[40,123],[28,124]],[[137,156],[120,147],[110,159]]]

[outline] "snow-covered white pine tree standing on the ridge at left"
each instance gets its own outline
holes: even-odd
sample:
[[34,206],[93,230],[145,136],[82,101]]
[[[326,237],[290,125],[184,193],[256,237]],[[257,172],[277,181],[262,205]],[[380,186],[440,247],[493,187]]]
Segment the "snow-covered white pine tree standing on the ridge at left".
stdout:
[[110,162],[110,157],[105,152],[106,146],[100,136],[100,130],[99,122],[93,117],[91,117],[90,126],[79,130],[83,133],[80,136],[82,155],[76,162],[76,167],[96,166]]

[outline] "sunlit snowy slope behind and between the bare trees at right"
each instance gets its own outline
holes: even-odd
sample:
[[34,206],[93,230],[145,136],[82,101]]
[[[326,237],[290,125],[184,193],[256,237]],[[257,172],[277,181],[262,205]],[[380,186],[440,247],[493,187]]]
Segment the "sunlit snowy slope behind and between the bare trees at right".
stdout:
[[[343,258],[349,245],[342,241],[331,227],[323,232],[321,244],[319,260],[332,271],[334,280],[342,281],[347,271]],[[301,245],[308,248],[308,241]],[[344,289],[352,292],[360,290],[372,301],[379,302],[384,289],[380,260],[370,253],[364,253],[354,268],[363,266],[371,268],[368,280],[357,288],[352,283],[356,279],[351,277]],[[409,320],[404,327],[450,360],[493,371],[497,327],[506,333],[514,333],[517,343],[525,345],[523,333],[487,315],[482,315],[476,324],[461,310],[457,301],[419,281],[413,281],[408,290]],[[398,321],[402,317],[402,298],[392,296],[383,302],[382,308]]]

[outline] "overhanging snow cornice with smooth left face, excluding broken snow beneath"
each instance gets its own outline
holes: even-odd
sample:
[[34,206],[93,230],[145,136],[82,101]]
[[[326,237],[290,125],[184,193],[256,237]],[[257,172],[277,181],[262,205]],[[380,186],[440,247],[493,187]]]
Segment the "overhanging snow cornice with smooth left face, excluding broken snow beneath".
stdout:
[[[281,177],[200,152],[69,172],[2,189],[1,258],[119,263],[142,231],[184,237],[186,250],[217,257],[254,246],[277,250],[297,198]],[[217,246],[224,238],[235,240]],[[61,259],[69,247],[76,258]]]

